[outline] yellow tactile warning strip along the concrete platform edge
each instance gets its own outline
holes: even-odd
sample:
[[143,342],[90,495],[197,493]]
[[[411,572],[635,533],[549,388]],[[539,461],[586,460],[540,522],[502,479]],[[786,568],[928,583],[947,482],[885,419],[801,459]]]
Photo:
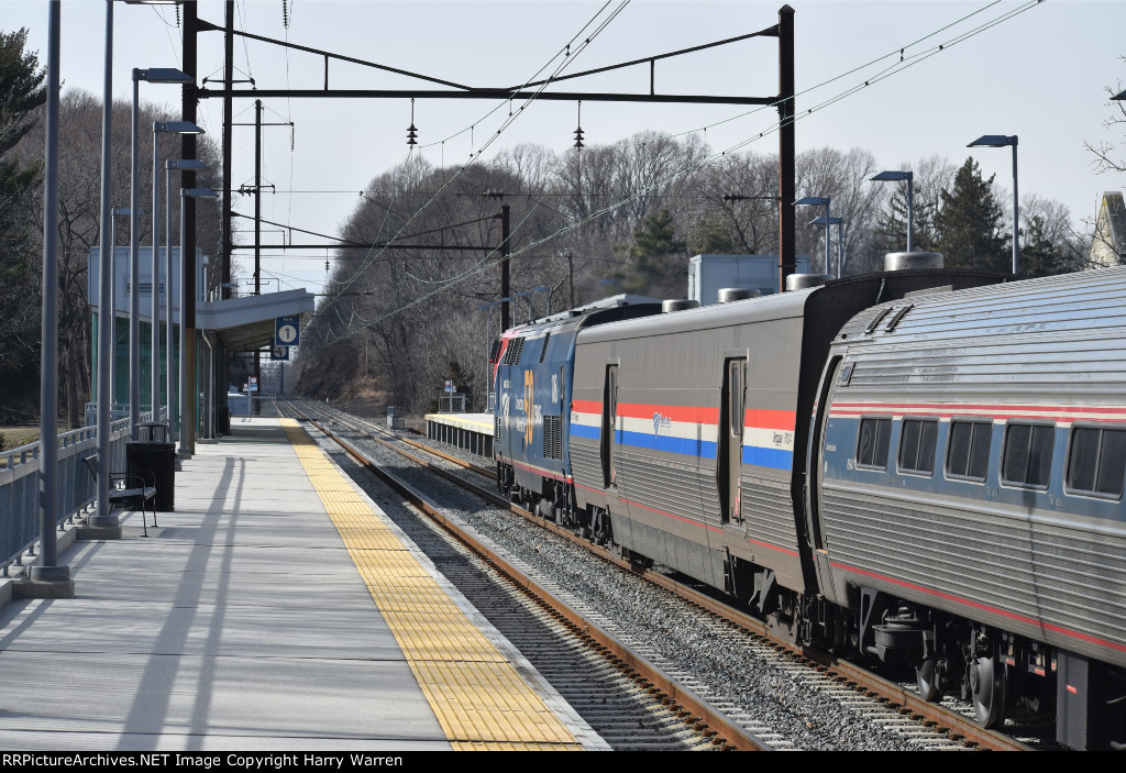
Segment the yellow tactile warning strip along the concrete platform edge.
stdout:
[[282,425],[453,747],[581,749],[297,422]]

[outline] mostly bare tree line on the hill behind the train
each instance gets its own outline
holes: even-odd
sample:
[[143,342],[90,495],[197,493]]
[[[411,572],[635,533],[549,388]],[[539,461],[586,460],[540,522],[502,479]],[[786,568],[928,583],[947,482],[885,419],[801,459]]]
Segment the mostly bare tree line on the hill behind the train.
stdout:
[[[390,404],[430,410],[443,380],[483,408],[485,356],[499,333],[502,204],[511,210],[513,320],[617,293],[683,297],[695,254],[776,254],[778,159],[727,154],[705,163],[695,137],[655,132],[613,145],[555,153],[520,145],[465,168],[411,158],[375,177],[341,231],[350,242],[395,237],[410,250],[347,250],[334,268],[295,368],[306,394],[347,399],[381,388]],[[843,218],[844,276],[879,270],[906,249],[905,183],[872,182],[867,150],[832,147],[797,156],[798,196],[828,196]],[[930,156],[914,174],[913,243],[946,266],[1008,272],[1011,208],[1006,191],[969,158]],[[824,266],[825,228],[806,225],[821,207],[799,207],[797,252]],[[805,217],[803,217],[803,215]],[[1058,201],[1026,194],[1020,209],[1022,276],[1071,271],[1090,251]],[[463,224],[463,225],[457,225]],[[835,273],[838,230],[828,272]],[[480,246],[477,252],[452,246]],[[547,288],[535,290],[534,288]],[[366,379],[365,379],[366,375]]]

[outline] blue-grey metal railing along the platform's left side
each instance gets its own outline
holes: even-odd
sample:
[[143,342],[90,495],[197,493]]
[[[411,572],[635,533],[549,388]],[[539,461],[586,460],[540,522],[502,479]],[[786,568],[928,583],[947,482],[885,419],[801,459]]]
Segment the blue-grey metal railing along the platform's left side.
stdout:
[[[161,417],[164,412],[161,411]],[[152,414],[142,414],[149,421]],[[109,425],[109,469],[125,469],[125,443],[129,420]],[[55,523],[62,530],[74,516],[93,505],[97,486],[83,459],[98,450],[98,430],[83,426],[57,435],[57,466],[54,486],[59,512]],[[7,577],[12,565],[23,564],[25,555],[37,554],[39,541],[39,467],[42,439],[27,446],[0,451],[0,576]]]

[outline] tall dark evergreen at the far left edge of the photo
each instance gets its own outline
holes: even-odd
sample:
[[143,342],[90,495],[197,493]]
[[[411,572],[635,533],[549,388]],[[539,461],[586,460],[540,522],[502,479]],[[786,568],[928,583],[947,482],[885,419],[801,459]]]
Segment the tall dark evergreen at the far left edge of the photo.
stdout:
[[35,125],[33,113],[46,101],[34,53],[25,52],[27,30],[0,32],[0,413],[34,405],[38,385],[39,294],[33,201],[42,164],[20,168],[12,149]]

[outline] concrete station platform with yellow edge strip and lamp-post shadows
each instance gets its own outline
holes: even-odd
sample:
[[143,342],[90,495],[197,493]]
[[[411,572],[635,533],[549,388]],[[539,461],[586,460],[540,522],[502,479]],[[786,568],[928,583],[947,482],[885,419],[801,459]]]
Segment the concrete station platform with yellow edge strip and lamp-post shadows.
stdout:
[[75,597],[0,608],[0,747],[606,748],[297,422],[197,450]]

